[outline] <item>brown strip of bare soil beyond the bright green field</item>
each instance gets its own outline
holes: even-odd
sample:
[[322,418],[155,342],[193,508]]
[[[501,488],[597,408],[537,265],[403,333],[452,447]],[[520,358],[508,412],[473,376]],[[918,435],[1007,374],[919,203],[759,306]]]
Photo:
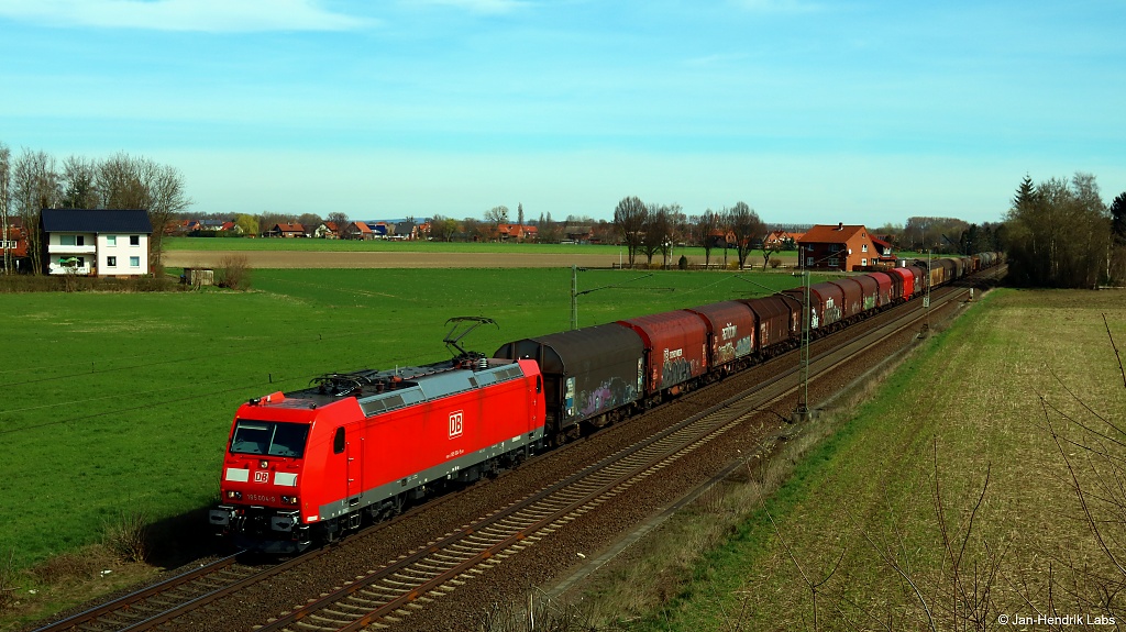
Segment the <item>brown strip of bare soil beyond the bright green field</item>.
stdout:
[[618,263],[605,254],[169,251],[164,265],[217,268],[231,255],[245,256],[251,268],[610,268]]

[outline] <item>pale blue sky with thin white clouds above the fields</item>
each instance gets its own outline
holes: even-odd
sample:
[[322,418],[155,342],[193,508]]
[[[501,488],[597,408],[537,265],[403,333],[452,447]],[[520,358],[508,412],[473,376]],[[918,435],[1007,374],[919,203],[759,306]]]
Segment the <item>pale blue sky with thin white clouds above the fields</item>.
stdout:
[[0,0],[0,142],[199,213],[997,222],[1126,191],[1126,3]]

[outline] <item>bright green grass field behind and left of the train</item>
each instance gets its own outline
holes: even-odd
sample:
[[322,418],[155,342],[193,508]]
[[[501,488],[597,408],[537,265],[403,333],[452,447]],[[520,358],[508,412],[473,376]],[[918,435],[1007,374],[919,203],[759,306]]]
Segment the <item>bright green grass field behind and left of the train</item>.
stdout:
[[[123,514],[211,504],[231,417],[331,371],[447,358],[570,326],[570,270],[256,270],[250,292],[0,295],[0,553],[16,568],[98,542]],[[722,272],[589,271],[580,325],[761,296]],[[788,274],[748,276],[780,289]],[[204,525],[199,525],[205,529]]]

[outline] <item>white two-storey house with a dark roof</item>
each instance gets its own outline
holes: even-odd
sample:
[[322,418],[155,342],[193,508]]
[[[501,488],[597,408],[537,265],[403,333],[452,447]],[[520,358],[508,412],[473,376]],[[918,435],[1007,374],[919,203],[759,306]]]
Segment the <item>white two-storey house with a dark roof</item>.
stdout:
[[149,273],[152,224],[145,210],[45,208],[42,225],[48,274]]

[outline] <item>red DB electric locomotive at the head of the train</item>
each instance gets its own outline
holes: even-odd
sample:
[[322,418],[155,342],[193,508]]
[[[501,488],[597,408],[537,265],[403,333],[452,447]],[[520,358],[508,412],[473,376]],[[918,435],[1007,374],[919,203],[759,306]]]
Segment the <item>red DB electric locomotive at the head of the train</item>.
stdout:
[[211,523],[239,545],[294,552],[423,496],[475,480],[543,441],[539,369],[454,360],[325,376],[242,405]]

